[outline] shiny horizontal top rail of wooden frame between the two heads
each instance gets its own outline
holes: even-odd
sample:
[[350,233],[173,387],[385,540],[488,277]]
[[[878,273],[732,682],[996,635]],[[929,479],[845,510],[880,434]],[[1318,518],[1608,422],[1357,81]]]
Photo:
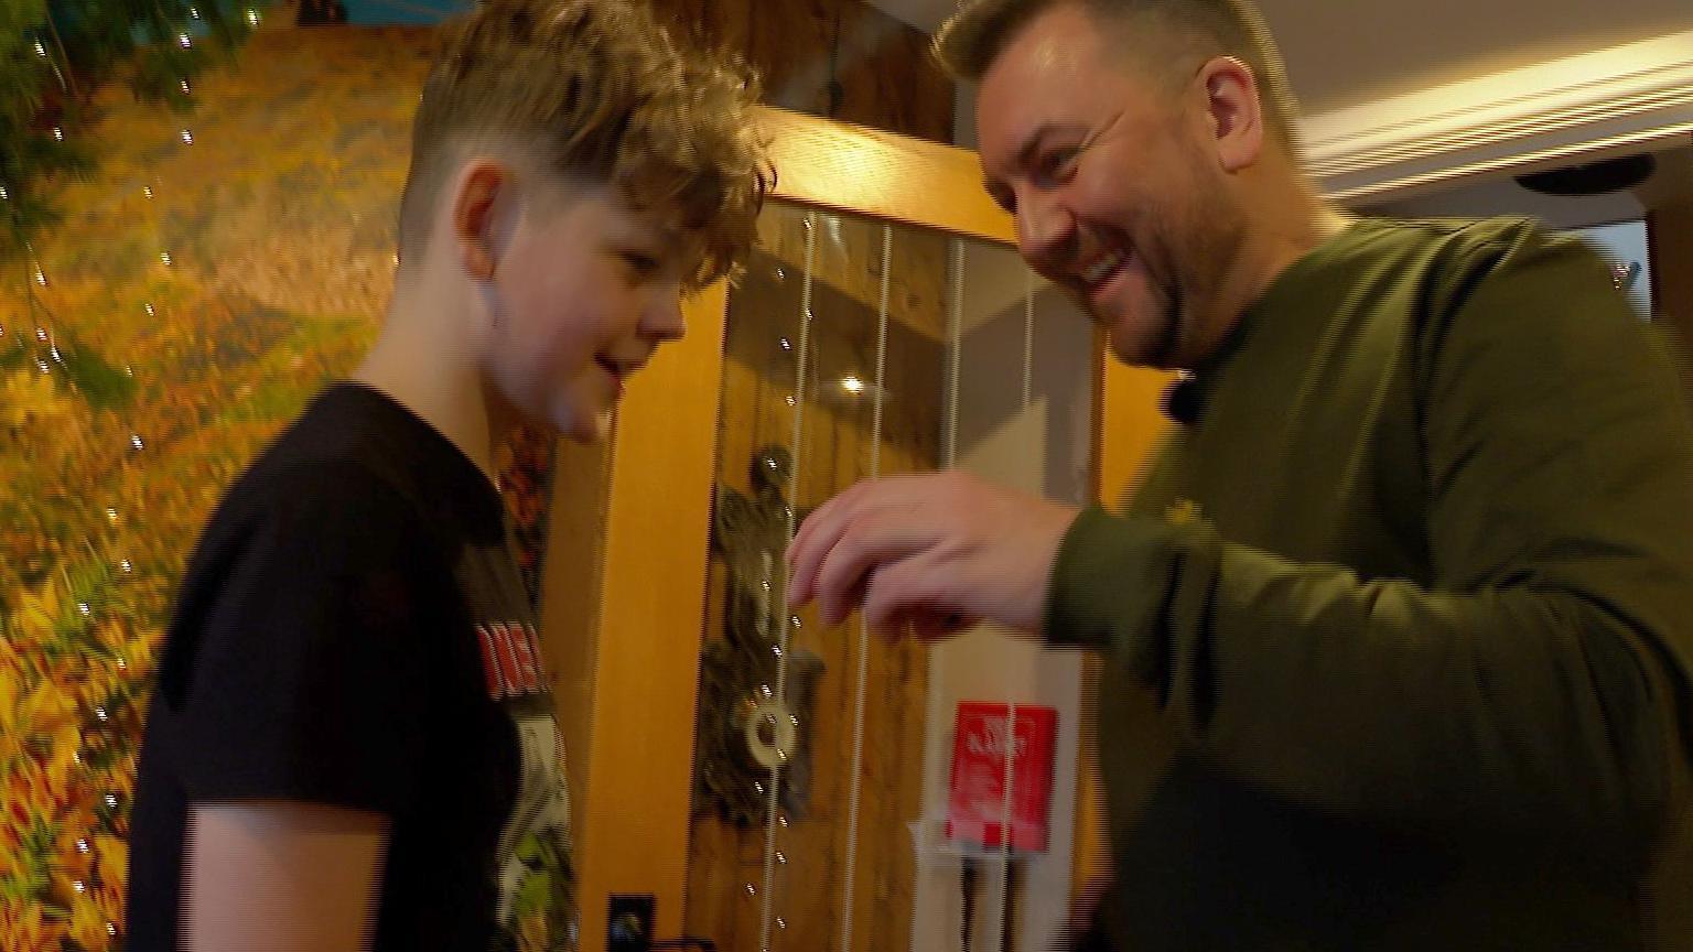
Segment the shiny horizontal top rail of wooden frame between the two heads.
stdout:
[[1016,237],[968,149],[777,108],[762,122],[780,198],[1004,244]]

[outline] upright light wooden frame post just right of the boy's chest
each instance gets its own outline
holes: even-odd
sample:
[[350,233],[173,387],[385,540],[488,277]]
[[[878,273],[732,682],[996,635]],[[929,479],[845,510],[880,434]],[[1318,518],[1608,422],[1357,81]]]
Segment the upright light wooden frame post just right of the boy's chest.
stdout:
[[[659,351],[618,408],[618,437],[638,439],[611,444],[601,618],[596,634],[576,634],[598,645],[591,723],[567,727],[589,737],[576,767],[586,776],[577,810],[582,949],[606,945],[608,893],[652,893],[660,933],[681,930],[687,725],[704,601],[723,312],[723,285],[687,302],[687,337]],[[662,598],[655,596],[660,586]]]

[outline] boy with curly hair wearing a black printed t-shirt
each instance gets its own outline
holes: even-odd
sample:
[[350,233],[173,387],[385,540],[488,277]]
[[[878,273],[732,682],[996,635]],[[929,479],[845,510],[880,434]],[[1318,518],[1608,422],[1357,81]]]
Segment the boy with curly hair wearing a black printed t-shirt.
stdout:
[[564,762],[493,447],[591,440],[733,269],[740,69],[623,0],[489,0],[418,107],[386,325],[230,490],[185,579],[127,949],[572,949]]

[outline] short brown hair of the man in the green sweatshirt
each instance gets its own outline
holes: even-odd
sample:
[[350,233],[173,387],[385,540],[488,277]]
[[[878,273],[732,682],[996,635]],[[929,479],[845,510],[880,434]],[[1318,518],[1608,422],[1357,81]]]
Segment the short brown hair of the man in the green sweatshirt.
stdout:
[[1029,20],[1067,3],[1121,27],[1124,56],[1153,76],[1185,83],[1214,56],[1239,59],[1258,80],[1270,132],[1299,151],[1299,103],[1251,0],[967,0],[935,34],[935,56],[953,78],[979,83]]

